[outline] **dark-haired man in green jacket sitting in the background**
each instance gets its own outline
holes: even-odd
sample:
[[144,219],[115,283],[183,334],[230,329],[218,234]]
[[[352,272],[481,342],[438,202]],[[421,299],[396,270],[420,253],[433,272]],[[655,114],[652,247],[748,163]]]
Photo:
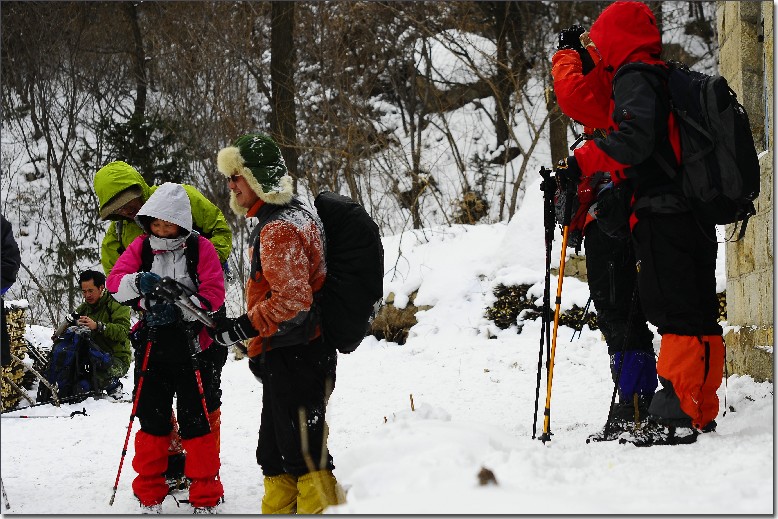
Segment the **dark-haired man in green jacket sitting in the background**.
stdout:
[[111,361],[98,367],[97,389],[116,400],[121,399],[122,383],[119,380],[130,369],[130,308],[119,304],[105,289],[105,275],[96,270],[85,270],[78,277],[84,302],[62,323],[55,337],[68,326],[79,325],[91,330],[91,339],[111,356]]

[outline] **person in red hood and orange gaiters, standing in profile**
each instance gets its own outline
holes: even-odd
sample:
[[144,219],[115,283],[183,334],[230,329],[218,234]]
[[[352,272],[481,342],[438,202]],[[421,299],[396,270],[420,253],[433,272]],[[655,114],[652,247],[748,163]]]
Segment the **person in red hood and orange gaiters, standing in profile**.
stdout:
[[[657,157],[678,164],[680,139],[666,91],[656,18],[641,2],[615,2],[589,34],[611,81],[615,128],[575,150],[558,175],[609,171],[614,190],[629,179],[629,229],[638,262],[643,310],[662,336],[657,373],[662,388],[649,407],[649,427],[636,443],[691,443],[712,431],[719,411],[724,343],[716,298],[713,225],[699,222]],[[599,217],[598,217],[599,218]]]

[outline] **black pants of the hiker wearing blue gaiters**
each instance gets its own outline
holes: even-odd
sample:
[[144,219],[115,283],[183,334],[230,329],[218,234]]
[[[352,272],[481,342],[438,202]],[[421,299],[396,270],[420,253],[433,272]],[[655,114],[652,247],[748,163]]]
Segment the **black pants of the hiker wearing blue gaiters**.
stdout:
[[639,298],[633,297],[637,271],[632,243],[609,237],[592,222],[586,227],[584,247],[589,293],[608,354],[622,349],[653,353],[654,334],[648,329]]

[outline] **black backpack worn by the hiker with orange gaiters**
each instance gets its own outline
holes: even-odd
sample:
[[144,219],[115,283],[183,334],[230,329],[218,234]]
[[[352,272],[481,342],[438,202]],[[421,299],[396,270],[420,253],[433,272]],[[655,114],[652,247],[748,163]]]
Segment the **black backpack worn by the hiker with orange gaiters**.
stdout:
[[[674,61],[667,65],[681,164],[675,168],[658,153],[654,158],[680,185],[701,221],[723,225],[742,220],[742,237],[748,218],[756,214],[753,202],[760,177],[748,114],[722,76],[695,72]],[[641,65],[625,65],[619,73],[635,66]]]

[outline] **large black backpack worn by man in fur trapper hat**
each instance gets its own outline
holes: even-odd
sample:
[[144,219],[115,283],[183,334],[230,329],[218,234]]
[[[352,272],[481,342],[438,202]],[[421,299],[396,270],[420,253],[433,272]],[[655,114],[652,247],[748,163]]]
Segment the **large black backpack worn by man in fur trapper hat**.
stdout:
[[313,202],[327,239],[327,277],[319,292],[324,342],[350,353],[365,338],[384,291],[378,225],[349,197],[324,191]]

